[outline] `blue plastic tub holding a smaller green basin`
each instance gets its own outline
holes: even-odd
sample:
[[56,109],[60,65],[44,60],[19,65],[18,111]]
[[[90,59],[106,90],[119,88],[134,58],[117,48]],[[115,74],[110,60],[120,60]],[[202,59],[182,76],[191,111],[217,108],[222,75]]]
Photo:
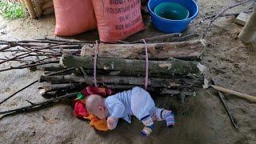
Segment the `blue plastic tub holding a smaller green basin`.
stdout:
[[[190,12],[189,18],[182,20],[170,20],[161,18],[157,14],[154,14],[154,7],[162,2],[176,2],[182,6],[185,6]],[[151,15],[151,21],[158,30],[164,33],[180,33],[186,30],[194,18],[198,16],[199,8],[198,4],[194,0],[150,0],[147,4],[147,8]]]

